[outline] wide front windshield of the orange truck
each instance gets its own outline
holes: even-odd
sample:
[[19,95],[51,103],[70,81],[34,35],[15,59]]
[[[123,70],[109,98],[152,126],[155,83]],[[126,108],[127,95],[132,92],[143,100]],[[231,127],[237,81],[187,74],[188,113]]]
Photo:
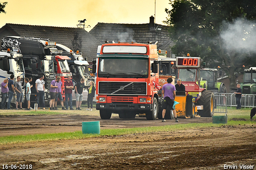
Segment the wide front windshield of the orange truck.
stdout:
[[148,77],[148,58],[100,58],[99,77]]

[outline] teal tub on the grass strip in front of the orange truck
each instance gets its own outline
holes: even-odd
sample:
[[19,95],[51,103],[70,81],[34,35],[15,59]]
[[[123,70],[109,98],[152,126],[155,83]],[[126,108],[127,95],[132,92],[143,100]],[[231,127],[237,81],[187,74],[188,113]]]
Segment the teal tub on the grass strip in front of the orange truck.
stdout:
[[100,134],[100,121],[96,122],[82,122],[82,133]]

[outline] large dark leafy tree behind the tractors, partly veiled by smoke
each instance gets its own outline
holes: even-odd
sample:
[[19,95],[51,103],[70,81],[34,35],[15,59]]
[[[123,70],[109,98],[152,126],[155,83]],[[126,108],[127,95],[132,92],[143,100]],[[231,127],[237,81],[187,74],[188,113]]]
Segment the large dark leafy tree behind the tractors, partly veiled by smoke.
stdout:
[[[172,9],[165,9],[168,18],[164,22],[171,26],[170,37],[176,42],[173,53],[200,56],[210,67],[220,65],[234,86],[234,73],[256,54],[246,46],[256,31],[256,1],[170,0],[169,4]],[[232,30],[236,27],[241,29]],[[236,33],[228,36],[232,31]]]

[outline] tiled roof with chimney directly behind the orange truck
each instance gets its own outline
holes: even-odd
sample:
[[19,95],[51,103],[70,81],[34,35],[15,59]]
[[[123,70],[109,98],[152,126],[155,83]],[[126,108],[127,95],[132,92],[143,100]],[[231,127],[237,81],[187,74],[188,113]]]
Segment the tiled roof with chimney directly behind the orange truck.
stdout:
[[[156,31],[156,28],[162,27],[162,30]],[[90,34],[98,41],[104,43],[114,42],[137,42],[137,43],[155,43],[158,41],[158,48],[170,49],[172,41],[169,38],[169,26],[154,24],[154,17],[150,17],[148,24],[112,24],[112,23],[98,23]]]

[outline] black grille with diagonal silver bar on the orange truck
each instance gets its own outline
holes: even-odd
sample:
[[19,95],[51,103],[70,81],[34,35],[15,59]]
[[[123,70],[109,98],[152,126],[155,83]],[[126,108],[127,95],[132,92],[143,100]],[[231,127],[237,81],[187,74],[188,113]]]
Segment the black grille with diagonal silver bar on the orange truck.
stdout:
[[104,82],[98,83],[101,95],[146,95],[146,82]]

